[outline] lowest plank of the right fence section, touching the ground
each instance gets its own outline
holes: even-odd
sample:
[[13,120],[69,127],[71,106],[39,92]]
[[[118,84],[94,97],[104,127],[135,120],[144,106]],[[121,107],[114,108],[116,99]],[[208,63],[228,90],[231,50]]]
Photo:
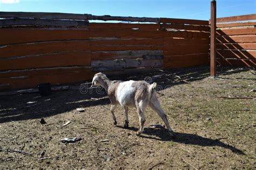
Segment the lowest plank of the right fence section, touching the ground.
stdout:
[[253,68],[256,68],[256,60],[217,58],[217,63],[220,66],[235,66],[235,67],[253,67]]

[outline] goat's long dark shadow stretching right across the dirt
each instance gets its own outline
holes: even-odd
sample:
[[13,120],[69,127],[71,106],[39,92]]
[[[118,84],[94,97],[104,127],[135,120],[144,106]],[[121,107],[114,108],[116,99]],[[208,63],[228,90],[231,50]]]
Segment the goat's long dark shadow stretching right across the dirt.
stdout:
[[[123,126],[117,126],[117,127],[126,129],[126,130],[138,131],[138,128],[134,128],[134,127],[129,127],[129,128],[124,128]],[[145,136],[145,134],[147,134],[148,136]],[[167,129],[144,128],[144,132],[140,135],[140,137],[147,138],[147,139],[161,140],[161,141],[174,141],[177,143],[182,143],[187,145],[220,146],[220,147],[230,149],[232,152],[236,154],[245,155],[245,153],[239,150],[238,148],[225,144],[221,142],[219,139],[205,138],[205,137],[198,136],[197,134],[191,134],[191,133],[175,132],[175,135],[176,135],[176,138],[172,139]]]

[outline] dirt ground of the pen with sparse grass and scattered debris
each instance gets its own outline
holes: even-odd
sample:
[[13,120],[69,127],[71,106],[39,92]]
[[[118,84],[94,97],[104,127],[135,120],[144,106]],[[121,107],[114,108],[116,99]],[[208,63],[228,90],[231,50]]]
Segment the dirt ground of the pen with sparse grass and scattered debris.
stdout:
[[[129,110],[130,128],[125,129],[123,109],[117,108],[114,126],[104,95],[70,89],[47,97],[0,96],[0,168],[256,168],[253,70],[218,68],[215,79],[208,77],[208,67],[147,76],[166,87],[158,96],[176,139],[166,129],[150,127],[163,124],[151,109],[140,137],[135,109]],[[145,74],[122,77],[143,80]],[[39,123],[41,118],[46,124]],[[60,139],[65,137],[82,140],[64,144]]]

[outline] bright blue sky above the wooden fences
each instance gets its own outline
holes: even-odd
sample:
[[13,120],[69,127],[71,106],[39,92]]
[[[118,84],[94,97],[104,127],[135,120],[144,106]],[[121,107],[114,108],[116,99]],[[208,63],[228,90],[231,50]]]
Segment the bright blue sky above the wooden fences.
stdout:
[[[0,0],[0,11],[208,20],[210,2],[210,0]],[[256,13],[256,0],[217,0],[217,17],[252,13]]]

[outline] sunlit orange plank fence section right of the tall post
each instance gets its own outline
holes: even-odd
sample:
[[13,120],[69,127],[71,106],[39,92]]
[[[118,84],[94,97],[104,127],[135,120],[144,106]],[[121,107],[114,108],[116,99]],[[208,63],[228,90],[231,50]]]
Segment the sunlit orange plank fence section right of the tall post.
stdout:
[[217,18],[218,64],[256,67],[255,20],[256,14]]

